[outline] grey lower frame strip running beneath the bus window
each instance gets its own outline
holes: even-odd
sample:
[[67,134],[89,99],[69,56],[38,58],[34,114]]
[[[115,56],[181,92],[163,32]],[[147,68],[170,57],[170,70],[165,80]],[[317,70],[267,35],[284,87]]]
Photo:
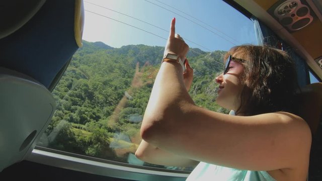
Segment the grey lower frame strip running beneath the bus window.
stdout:
[[27,161],[96,175],[155,181],[184,181],[191,171],[139,166],[36,146]]

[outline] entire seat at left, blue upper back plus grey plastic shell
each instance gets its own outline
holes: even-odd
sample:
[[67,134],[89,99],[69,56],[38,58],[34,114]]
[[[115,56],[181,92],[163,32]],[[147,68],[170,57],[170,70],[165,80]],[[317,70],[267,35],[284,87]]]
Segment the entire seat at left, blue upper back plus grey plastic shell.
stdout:
[[33,150],[51,122],[50,91],[82,46],[83,0],[1,1],[0,171]]

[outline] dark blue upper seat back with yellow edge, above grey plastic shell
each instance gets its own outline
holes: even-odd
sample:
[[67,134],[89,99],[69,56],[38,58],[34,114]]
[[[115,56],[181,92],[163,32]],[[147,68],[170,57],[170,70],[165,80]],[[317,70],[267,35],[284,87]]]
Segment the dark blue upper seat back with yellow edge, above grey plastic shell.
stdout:
[[0,66],[50,91],[82,46],[83,0],[1,1]]

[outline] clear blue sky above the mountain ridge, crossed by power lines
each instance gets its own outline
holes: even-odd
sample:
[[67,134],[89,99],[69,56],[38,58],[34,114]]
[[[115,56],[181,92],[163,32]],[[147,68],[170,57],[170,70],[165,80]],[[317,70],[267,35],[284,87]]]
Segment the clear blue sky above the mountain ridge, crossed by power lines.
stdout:
[[116,48],[165,46],[174,17],[189,47],[214,51],[257,43],[253,22],[221,0],[85,0],[84,6],[83,39]]

